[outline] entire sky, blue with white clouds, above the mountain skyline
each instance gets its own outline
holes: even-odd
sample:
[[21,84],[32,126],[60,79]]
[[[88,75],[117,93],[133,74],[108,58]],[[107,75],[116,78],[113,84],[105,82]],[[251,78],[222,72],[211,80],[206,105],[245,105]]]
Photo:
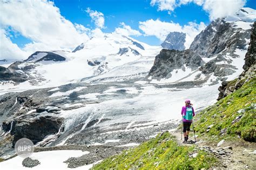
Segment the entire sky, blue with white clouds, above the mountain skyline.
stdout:
[[[97,29],[110,33],[118,28],[150,45],[160,45],[169,32],[185,32],[185,46],[189,47],[213,19],[243,6],[256,9],[255,0],[8,1],[0,4],[0,58],[21,56],[21,52],[26,56],[36,50],[72,49]],[[97,15],[96,19],[91,14]],[[100,19],[103,23],[99,26],[96,22],[102,22]]]

